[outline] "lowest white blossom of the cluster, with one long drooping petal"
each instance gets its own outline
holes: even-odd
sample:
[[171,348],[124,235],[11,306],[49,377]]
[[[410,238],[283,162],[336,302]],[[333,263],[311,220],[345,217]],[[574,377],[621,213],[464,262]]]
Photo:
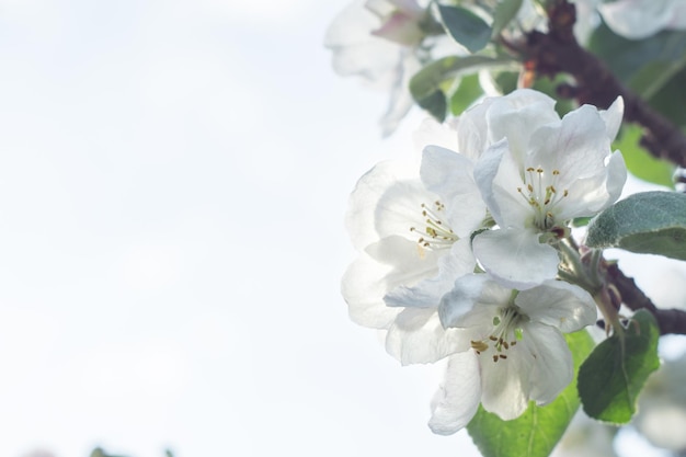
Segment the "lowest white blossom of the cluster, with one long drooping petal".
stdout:
[[516,292],[473,274],[443,297],[439,317],[446,329],[464,330],[471,346],[448,358],[433,402],[432,431],[451,434],[469,423],[479,403],[511,420],[531,400],[552,401],[573,378],[562,333],[595,322],[596,308],[588,293],[564,282]]

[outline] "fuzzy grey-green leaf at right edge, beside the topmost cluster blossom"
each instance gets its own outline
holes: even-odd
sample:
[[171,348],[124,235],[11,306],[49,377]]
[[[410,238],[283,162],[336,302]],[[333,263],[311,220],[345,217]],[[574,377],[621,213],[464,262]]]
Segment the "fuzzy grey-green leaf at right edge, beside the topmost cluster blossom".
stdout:
[[686,195],[653,191],[617,202],[591,220],[586,245],[686,260]]

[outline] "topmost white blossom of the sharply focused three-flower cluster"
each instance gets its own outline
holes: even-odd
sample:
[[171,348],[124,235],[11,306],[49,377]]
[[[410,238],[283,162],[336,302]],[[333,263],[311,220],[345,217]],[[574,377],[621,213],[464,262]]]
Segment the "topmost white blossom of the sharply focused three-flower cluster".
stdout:
[[558,251],[575,217],[614,203],[627,178],[610,141],[622,116],[621,99],[606,112],[584,105],[560,119],[547,95],[517,90],[493,99],[482,135],[491,145],[475,180],[499,226],[473,239],[482,267],[503,284],[528,288],[554,278]]

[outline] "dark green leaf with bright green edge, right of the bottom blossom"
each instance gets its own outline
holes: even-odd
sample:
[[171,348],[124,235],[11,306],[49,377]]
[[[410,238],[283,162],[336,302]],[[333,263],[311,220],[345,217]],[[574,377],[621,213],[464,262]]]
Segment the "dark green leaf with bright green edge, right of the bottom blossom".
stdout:
[[653,316],[639,310],[626,331],[593,351],[579,370],[579,395],[591,418],[626,424],[651,373],[660,367],[660,330]]

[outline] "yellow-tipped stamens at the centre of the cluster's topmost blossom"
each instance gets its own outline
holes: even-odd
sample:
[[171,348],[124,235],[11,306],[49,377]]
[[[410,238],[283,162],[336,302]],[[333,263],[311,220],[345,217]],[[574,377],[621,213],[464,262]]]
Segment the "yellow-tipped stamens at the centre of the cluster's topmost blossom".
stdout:
[[567,188],[556,187],[560,170],[547,172],[541,167],[529,167],[524,174],[524,187],[517,192],[534,208],[534,226],[540,230],[554,228],[554,207],[568,195]]

